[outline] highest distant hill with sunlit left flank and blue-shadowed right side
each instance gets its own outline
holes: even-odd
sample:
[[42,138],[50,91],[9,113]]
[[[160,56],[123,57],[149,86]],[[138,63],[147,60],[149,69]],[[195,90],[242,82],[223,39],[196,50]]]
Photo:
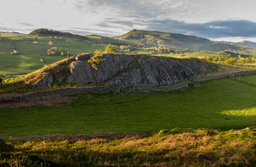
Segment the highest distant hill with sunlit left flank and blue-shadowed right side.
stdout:
[[159,31],[145,31],[133,29],[122,36],[113,37],[116,40],[131,41],[138,44],[164,46],[173,48],[190,48],[192,50],[211,50],[219,51],[226,49],[237,49],[238,46],[228,43],[221,43],[176,33],[164,33]]

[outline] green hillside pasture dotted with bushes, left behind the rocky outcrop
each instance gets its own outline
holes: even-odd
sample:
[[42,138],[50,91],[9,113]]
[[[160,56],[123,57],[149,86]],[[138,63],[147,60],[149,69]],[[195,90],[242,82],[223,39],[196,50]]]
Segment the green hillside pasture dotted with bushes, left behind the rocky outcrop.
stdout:
[[[127,42],[113,40],[112,38],[95,38],[88,36],[88,40],[79,40],[75,37],[62,37],[63,40],[55,40],[49,36],[36,36],[38,44],[27,43],[33,42],[35,36],[27,34],[3,33],[0,40],[0,75],[20,76],[24,73],[30,73],[44,65],[40,56],[44,59],[44,64],[51,64],[65,56],[46,55],[47,49],[51,47],[62,48],[64,53],[70,51],[71,55],[85,52],[94,52],[95,50],[104,50],[109,43]],[[60,37],[60,36],[58,36]],[[12,41],[12,43],[10,43]],[[53,46],[48,45],[52,41]],[[20,55],[11,55],[13,47],[20,52]]]

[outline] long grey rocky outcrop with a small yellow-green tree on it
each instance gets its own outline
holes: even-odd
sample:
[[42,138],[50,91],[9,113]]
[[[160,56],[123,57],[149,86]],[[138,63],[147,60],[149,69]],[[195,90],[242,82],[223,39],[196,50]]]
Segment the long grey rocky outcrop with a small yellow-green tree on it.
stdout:
[[57,62],[25,76],[34,88],[51,83],[88,83],[90,85],[172,85],[189,81],[200,73],[216,71],[216,67],[200,59],[175,59],[150,55],[104,54],[105,61],[92,68],[88,59],[93,54],[81,54]]

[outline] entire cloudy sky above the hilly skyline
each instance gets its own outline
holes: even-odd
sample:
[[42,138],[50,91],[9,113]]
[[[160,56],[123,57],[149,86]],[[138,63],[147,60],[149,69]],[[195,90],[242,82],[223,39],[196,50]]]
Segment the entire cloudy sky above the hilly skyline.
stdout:
[[256,42],[255,0],[1,0],[0,31],[120,36],[145,29]]

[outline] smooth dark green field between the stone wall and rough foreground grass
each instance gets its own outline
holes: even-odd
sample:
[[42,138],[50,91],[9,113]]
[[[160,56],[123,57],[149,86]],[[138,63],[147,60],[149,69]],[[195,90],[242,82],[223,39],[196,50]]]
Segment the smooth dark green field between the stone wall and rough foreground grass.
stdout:
[[256,87],[229,78],[200,85],[176,93],[80,95],[72,105],[1,108],[0,136],[255,125]]

